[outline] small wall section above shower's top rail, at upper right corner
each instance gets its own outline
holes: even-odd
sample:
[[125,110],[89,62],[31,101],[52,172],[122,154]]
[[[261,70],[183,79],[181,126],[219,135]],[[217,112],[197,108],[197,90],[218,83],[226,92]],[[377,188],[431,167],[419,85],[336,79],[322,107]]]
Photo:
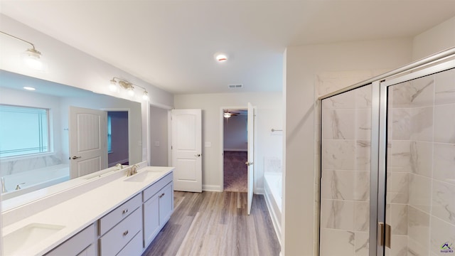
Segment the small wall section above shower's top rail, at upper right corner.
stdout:
[[412,60],[455,47],[455,16],[414,37]]

